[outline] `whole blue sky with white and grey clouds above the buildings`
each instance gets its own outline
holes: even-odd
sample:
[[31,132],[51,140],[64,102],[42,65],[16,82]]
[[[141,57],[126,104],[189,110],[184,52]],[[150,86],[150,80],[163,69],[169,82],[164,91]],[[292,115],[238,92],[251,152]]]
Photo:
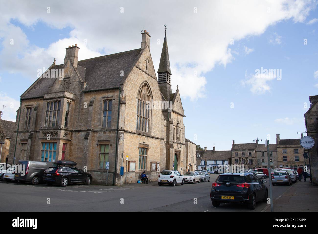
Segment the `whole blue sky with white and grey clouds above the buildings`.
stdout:
[[167,24],[186,138],[217,150],[300,138],[318,94],[317,21],[316,1],[1,1],[3,119],[15,120],[38,69],[63,63],[68,45],[79,60],[132,50],[144,29],[157,69]]

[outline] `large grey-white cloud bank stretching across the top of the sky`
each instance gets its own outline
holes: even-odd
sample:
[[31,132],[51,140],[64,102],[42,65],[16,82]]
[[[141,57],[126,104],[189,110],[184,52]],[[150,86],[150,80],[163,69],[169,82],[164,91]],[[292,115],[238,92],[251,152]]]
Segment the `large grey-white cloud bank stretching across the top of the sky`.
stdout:
[[[142,27],[151,35],[151,54],[157,69],[167,23],[167,39],[172,70],[172,86],[179,85],[183,97],[204,97],[205,73],[215,64],[226,66],[234,60],[230,40],[237,42],[248,36],[261,35],[270,25],[283,20],[304,22],[315,4],[311,1],[1,1],[0,69],[22,73],[36,79],[37,69],[48,67],[53,58],[63,63],[65,48],[78,44],[79,59],[99,54],[117,53],[140,48]],[[121,13],[123,7],[124,13]],[[197,13],[194,12],[197,7]],[[271,9],[270,13],[267,12]],[[229,11],[229,9],[232,9]],[[45,48],[34,46],[25,33],[11,23],[15,19],[32,27],[41,21],[52,28],[72,28],[68,38]],[[162,19],[162,21],[158,21]],[[257,19],[257,20],[255,20]],[[204,23],[202,23],[204,22]],[[209,25],[208,27],[206,25]],[[43,35],[46,40],[50,35]],[[10,39],[15,44],[10,45]],[[161,44],[157,44],[160,39]],[[280,44],[278,37],[275,43]],[[87,41],[87,44],[84,44]],[[251,52],[251,51],[250,51]],[[250,53],[249,52],[249,53]],[[196,76],[193,74],[197,72]],[[266,88],[267,90],[267,88]]]

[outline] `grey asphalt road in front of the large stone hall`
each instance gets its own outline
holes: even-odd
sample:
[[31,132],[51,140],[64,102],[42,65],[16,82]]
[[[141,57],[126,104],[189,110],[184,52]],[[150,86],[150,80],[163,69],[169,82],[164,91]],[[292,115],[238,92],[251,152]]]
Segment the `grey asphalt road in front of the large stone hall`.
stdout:
[[[122,187],[103,185],[47,186],[0,181],[2,212],[261,212],[267,203],[258,202],[256,209],[246,205],[225,203],[214,208],[210,200],[212,182],[158,186],[129,184]],[[266,179],[268,181],[268,179]],[[268,187],[269,183],[266,183]],[[291,186],[273,187],[273,199]],[[49,202],[50,203],[49,203]],[[197,202],[195,202],[197,201]]]

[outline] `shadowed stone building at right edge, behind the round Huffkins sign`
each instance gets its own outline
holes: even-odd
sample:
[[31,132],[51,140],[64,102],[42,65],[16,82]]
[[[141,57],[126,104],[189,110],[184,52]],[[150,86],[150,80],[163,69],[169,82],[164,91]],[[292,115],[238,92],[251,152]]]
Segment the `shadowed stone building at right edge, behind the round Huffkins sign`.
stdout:
[[[307,136],[315,140],[315,145],[309,149],[310,174],[313,185],[318,185],[318,95],[309,96],[310,108],[304,114]],[[308,150],[306,150],[308,152]],[[309,159],[305,159],[305,164],[309,164]]]

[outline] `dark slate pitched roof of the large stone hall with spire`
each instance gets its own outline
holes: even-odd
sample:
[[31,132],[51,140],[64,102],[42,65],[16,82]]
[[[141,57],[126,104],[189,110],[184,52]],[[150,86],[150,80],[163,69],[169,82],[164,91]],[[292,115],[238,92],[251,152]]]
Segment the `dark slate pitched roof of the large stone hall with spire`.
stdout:
[[[142,51],[142,49],[135,49],[78,61],[76,71],[87,83],[83,91],[118,88],[135,66]],[[51,67],[51,69],[62,68],[63,64]],[[21,95],[21,99],[43,97],[54,81],[55,79],[52,78],[39,78],[28,92]]]

